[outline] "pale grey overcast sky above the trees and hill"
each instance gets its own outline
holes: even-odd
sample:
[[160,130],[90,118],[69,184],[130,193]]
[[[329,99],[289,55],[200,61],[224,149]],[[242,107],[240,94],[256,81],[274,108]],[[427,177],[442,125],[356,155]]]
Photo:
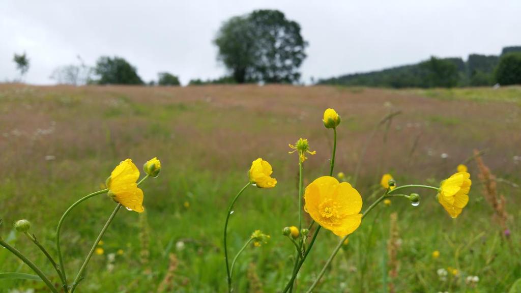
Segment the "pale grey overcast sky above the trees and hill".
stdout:
[[17,77],[13,55],[23,51],[35,84],[54,83],[53,69],[77,55],[90,65],[124,57],[145,81],[159,71],[183,83],[216,78],[226,73],[212,44],[222,21],[261,8],[300,23],[305,82],[521,45],[521,0],[0,0],[0,81]]

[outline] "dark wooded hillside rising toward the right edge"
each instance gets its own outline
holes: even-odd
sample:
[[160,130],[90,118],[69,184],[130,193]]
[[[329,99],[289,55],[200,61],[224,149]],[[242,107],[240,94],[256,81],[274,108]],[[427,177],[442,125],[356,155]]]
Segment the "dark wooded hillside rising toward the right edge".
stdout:
[[433,88],[521,84],[521,46],[504,47],[500,56],[470,54],[430,59],[413,65],[321,79],[319,84],[388,88]]

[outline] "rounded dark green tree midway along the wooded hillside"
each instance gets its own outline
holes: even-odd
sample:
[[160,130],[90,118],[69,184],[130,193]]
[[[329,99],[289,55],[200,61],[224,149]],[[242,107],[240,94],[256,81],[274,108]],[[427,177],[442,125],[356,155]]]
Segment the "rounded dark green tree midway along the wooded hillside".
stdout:
[[460,78],[458,66],[451,60],[439,59],[434,56],[420,63],[420,68],[425,71],[423,86],[426,88],[455,87]]

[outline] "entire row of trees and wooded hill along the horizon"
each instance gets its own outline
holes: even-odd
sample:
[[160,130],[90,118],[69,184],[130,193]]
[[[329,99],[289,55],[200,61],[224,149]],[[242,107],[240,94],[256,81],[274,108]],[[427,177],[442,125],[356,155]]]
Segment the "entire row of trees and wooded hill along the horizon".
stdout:
[[[298,83],[299,68],[308,46],[299,23],[278,10],[255,10],[228,19],[222,23],[213,44],[218,48],[217,60],[227,68],[227,74],[216,79],[192,79],[190,86]],[[25,53],[15,54],[14,61],[20,71],[19,80],[23,80],[29,70],[29,58]],[[60,84],[73,85],[180,86],[179,77],[170,72],[159,72],[157,81],[145,82],[137,68],[119,56],[101,56],[92,67],[78,56],[78,64],[56,68],[51,78]],[[431,57],[418,64],[320,79],[317,83],[390,88],[521,84],[521,46],[505,47],[500,56],[471,54],[466,61]]]

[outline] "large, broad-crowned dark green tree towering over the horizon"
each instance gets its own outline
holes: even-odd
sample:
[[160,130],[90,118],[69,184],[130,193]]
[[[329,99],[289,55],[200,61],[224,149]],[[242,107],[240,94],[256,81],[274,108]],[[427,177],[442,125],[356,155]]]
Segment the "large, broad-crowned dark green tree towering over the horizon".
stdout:
[[238,83],[263,81],[292,83],[300,79],[299,67],[307,42],[300,25],[278,10],[255,10],[232,17],[214,40],[218,59]]

